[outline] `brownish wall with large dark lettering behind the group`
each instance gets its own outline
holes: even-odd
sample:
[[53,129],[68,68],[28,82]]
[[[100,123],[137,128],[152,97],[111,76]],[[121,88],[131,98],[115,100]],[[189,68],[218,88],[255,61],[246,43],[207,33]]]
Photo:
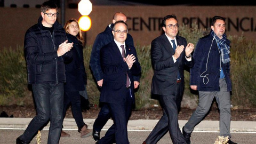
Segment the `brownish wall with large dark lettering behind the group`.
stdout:
[[[155,37],[161,35],[161,21],[167,14],[176,14],[180,25],[185,22],[190,26],[196,22],[200,28],[209,28],[210,18],[221,15],[227,18],[227,35],[244,33],[246,38],[256,40],[256,6],[93,6],[89,15],[92,27],[84,34],[87,45],[93,44],[97,34],[105,30],[112,22],[113,14],[118,11],[127,15],[129,33],[135,44],[149,45]],[[1,49],[3,46],[23,45],[26,30],[37,23],[40,9],[0,7],[0,14]],[[80,17],[76,9],[66,9],[66,20],[78,20]]]

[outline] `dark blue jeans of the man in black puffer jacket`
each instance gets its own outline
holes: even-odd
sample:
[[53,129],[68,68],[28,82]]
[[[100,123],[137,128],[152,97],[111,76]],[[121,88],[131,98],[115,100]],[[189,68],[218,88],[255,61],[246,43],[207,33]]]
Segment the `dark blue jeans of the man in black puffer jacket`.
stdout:
[[59,143],[62,129],[63,83],[33,84],[33,93],[37,115],[31,120],[20,139],[29,143],[38,130],[41,130],[50,119],[48,144]]

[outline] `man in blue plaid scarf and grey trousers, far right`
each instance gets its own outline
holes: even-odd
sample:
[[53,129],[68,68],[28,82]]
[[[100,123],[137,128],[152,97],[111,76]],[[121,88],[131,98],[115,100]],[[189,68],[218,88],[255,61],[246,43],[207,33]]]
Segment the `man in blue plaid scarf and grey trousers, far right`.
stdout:
[[[190,69],[190,88],[199,93],[199,102],[189,121],[182,128],[186,142],[194,127],[202,121],[211,108],[215,98],[220,110],[220,136],[230,140],[230,41],[225,34],[225,18],[212,18],[211,32],[199,39],[193,58],[194,67]],[[195,143],[195,142],[193,142]]]

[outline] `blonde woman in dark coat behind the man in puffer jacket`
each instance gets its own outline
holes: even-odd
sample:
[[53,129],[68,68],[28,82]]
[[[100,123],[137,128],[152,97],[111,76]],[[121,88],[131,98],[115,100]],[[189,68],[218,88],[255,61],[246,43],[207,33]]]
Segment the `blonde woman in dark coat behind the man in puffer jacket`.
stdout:
[[[87,129],[88,126],[83,121],[81,110],[80,95],[87,97],[87,78],[83,59],[83,35],[76,19],[68,20],[64,29],[67,33],[68,42],[74,44],[73,49],[71,49],[73,60],[65,63],[66,84],[64,85],[63,119],[65,118],[66,110],[71,103],[71,110],[78,127],[78,132],[81,133],[81,138],[86,138],[91,135],[92,130]],[[61,137],[70,137],[70,135],[62,131]]]

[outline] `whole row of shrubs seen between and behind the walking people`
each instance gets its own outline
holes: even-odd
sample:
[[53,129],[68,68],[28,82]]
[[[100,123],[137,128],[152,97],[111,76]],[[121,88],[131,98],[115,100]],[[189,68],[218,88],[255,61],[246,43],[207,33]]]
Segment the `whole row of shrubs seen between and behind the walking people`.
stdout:
[[[181,26],[179,35],[187,38],[187,42],[196,45],[198,39],[209,34],[206,29],[195,26]],[[231,81],[233,91],[232,104],[241,108],[256,107],[256,44],[242,36],[228,36],[231,40]],[[139,89],[135,92],[135,108],[150,107],[158,104],[151,98],[151,79],[154,71],[151,66],[150,45],[135,46],[141,64],[142,74]],[[84,64],[87,73],[87,93],[91,103],[98,104],[100,91],[89,67],[92,46],[84,47]],[[0,105],[31,105],[33,97],[27,84],[27,68],[23,55],[23,46],[16,49],[4,47],[0,53]],[[190,91],[189,69],[185,70],[185,91],[182,107],[195,108],[198,95]]]

